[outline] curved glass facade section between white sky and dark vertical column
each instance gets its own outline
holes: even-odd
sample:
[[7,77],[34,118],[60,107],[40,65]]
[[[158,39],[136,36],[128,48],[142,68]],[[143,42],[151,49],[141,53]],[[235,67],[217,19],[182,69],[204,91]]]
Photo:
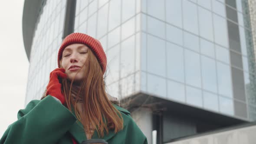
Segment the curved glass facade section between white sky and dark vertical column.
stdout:
[[47,0],[42,7],[34,32],[25,104],[43,95],[49,74],[57,65],[62,42],[66,0]]

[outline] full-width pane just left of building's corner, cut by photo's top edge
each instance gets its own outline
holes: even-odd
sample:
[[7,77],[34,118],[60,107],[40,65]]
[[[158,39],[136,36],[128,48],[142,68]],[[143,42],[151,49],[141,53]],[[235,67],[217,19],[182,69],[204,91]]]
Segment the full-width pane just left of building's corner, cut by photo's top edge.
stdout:
[[135,15],[135,0],[122,1],[122,22]]

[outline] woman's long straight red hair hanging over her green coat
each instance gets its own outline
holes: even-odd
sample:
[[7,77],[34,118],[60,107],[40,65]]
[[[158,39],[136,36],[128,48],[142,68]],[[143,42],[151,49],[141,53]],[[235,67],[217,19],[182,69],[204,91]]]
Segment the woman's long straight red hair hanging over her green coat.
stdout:
[[[60,60],[60,65],[61,62],[62,60]],[[108,100],[102,68],[90,49],[88,49],[88,58],[83,66],[86,66],[86,76],[79,86],[73,84],[74,79],[71,82],[68,79],[61,81],[66,107],[69,111],[74,108],[75,116],[83,124],[84,131],[90,131],[90,128],[93,128],[100,137],[104,137],[104,131],[108,134],[110,129],[113,129],[115,133],[121,131],[123,118],[112,105],[113,102]],[[46,95],[43,95],[41,99],[44,97]],[[83,111],[79,111],[76,106],[78,98],[82,100]]]

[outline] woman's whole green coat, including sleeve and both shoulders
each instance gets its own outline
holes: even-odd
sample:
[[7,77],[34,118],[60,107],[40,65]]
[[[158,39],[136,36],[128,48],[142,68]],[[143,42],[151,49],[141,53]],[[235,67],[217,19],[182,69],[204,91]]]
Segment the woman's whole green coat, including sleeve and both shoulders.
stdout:
[[[145,135],[130,116],[130,112],[115,105],[124,119],[124,128],[117,134],[109,131],[103,139],[108,144],[148,144]],[[48,95],[43,100],[33,100],[18,112],[18,120],[11,124],[0,144],[78,144],[86,140],[82,124],[65,106]],[[92,138],[98,138],[97,131]]]

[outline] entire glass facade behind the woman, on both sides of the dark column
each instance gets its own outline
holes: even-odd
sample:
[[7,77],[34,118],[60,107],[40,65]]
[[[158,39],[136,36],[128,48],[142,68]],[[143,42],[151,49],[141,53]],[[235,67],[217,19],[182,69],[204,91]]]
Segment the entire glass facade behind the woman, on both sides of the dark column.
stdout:
[[[26,102],[42,95],[49,72],[57,67],[65,3],[47,1],[43,7]],[[256,120],[247,0],[76,0],[74,32],[102,43],[110,95],[142,92]]]

